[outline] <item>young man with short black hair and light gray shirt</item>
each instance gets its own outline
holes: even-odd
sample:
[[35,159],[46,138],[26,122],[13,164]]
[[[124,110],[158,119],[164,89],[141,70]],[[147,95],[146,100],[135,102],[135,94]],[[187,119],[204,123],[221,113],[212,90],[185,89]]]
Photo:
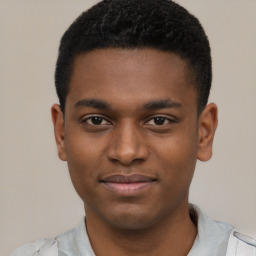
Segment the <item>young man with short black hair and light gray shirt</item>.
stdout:
[[199,21],[169,0],[106,0],[63,35],[52,107],[86,218],[13,255],[255,255],[255,241],[189,205],[217,107]]

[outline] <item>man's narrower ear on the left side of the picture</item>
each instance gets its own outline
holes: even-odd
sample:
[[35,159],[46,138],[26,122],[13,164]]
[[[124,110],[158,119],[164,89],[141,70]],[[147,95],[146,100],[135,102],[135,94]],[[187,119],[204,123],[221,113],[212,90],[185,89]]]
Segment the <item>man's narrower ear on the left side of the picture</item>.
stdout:
[[51,113],[58,155],[61,160],[66,161],[64,116],[60,109],[60,105],[54,104],[51,108]]

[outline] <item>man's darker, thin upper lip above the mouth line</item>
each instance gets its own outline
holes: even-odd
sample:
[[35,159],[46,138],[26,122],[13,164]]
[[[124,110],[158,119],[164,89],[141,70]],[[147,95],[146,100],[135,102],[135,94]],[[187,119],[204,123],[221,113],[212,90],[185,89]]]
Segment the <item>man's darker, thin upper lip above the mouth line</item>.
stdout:
[[138,183],[138,182],[153,182],[156,181],[155,178],[142,175],[142,174],[115,174],[107,176],[101,180],[102,182],[110,182],[110,183]]

